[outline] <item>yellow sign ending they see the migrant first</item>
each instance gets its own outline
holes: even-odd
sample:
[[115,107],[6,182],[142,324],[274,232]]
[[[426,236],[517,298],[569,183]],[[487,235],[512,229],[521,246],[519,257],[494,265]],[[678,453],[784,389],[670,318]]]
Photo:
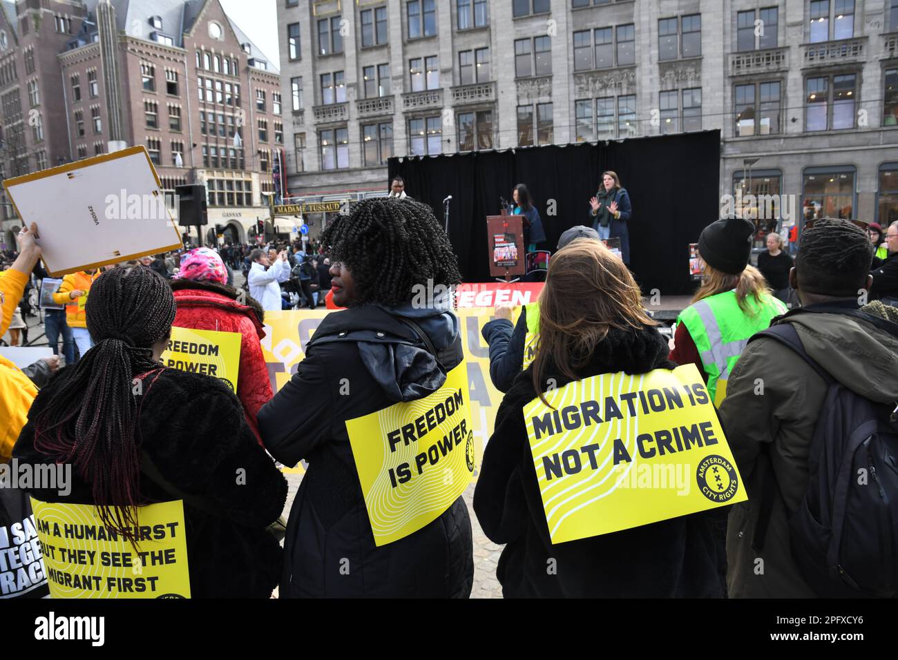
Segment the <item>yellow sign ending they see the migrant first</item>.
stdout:
[[51,598],[189,598],[180,500],[137,508],[136,549],[95,506],[31,498]]

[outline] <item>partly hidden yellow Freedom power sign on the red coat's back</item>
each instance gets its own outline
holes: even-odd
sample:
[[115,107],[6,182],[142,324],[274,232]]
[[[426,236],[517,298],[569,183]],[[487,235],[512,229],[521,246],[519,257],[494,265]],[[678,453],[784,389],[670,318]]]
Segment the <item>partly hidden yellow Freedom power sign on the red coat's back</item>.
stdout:
[[240,373],[239,332],[192,330],[172,326],[172,339],[163,353],[163,365],[172,369],[207,374],[225,381],[237,392]]

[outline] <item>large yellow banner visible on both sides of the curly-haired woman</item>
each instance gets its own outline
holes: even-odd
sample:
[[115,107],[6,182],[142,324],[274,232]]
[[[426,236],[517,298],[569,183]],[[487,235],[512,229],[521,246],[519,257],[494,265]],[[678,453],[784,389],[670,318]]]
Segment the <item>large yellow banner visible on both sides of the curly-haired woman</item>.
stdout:
[[[285,311],[265,312],[265,338],[261,341],[262,354],[269,368],[271,389],[277,392],[289,382],[299,363],[305,357],[305,347],[312,339],[321,321],[331,311]],[[518,310],[517,313],[520,313]],[[496,413],[504,394],[499,392],[489,380],[489,346],[480,335],[483,326],[492,321],[492,309],[458,309],[462,335],[464,365],[468,367],[468,395],[471,423],[477,449],[478,465],[483,447],[493,434]],[[287,473],[303,472],[302,463],[295,468],[287,468]],[[474,471],[477,477],[477,471]]]

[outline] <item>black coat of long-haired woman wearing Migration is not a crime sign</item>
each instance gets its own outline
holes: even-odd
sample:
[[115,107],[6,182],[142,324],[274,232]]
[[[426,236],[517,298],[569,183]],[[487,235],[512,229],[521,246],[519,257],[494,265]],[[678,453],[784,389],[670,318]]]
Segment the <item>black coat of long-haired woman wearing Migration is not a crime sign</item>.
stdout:
[[[581,378],[674,368],[657,330],[612,330]],[[483,455],[474,511],[483,531],[506,543],[497,576],[507,597],[718,597],[717,547],[709,515],[553,545],[524,427],[525,404],[537,397],[531,368],[518,374],[502,400],[496,430]],[[551,369],[561,387],[570,379]],[[557,568],[550,574],[549,559]]]

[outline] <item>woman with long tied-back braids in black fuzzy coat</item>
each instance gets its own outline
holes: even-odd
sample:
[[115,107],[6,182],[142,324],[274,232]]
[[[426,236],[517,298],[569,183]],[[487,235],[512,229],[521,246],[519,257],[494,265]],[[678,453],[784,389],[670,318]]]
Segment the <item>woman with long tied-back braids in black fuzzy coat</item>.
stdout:
[[225,383],[160,364],[175,311],[171,287],[149,268],[98,277],[85,310],[95,346],[40,391],[13,457],[70,464],[67,495],[31,495],[97,506],[131,542],[136,507],[183,500],[191,595],[267,598],[281,551],[266,528],[286,481]]

